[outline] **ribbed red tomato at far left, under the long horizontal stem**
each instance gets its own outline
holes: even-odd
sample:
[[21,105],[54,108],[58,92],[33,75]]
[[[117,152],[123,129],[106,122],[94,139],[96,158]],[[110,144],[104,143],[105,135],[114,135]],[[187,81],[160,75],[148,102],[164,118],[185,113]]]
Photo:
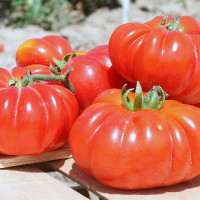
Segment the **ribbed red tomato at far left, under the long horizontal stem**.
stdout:
[[9,86],[20,77],[0,68],[0,153],[36,155],[61,147],[78,116],[78,102],[63,86]]

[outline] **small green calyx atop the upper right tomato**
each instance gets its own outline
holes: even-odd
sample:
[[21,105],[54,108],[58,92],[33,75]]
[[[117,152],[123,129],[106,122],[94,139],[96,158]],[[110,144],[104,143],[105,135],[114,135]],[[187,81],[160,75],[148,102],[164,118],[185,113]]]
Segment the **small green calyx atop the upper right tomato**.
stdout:
[[165,27],[168,31],[182,31],[182,32],[185,32],[185,28],[184,26],[181,26],[181,29],[180,29],[180,20],[177,19],[175,20],[174,18],[172,18],[169,23],[166,24],[167,22],[167,19],[164,19],[160,22],[159,26],[160,27]]

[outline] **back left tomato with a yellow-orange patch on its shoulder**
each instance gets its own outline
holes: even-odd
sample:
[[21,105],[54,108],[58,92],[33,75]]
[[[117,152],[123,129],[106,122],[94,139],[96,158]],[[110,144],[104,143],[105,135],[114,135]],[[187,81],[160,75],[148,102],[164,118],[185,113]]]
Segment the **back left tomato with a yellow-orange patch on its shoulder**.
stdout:
[[26,67],[32,64],[42,64],[49,66],[53,63],[53,58],[62,60],[63,57],[71,53],[69,42],[57,35],[48,35],[41,39],[29,39],[21,44],[16,53],[16,63],[18,67]]

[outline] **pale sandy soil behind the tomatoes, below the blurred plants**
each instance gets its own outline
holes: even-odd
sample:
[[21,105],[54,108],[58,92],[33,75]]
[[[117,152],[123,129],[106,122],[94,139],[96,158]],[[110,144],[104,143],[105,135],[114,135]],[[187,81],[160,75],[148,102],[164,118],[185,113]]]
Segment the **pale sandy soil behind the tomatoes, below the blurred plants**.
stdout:
[[[157,15],[179,17],[190,15],[200,20],[200,3],[198,0],[137,0],[129,8],[129,21],[140,22],[151,20]],[[181,0],[179,0],[181,1]],[[122,9],[109,10],[101,8],[89,15],[85,21],[66,26],[57,31],[45,31],[37,26],[25,28],[6,27],[0,24],[0,43],[4,51],[0,53],[0,67],[15,67],[17,48],[27,39],[41,38],[56,34],[66,37],[74,49],[90,50],[98,45],[107,44],[110,35],[122,23]]]

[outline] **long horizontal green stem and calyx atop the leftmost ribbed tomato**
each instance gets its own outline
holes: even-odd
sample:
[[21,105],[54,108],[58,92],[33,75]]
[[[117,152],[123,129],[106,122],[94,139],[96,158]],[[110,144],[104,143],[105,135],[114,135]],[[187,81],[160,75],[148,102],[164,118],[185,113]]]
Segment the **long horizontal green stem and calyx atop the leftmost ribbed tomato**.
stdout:
[[16,79],[10,80],[9,86],[22,88],[28,87],[36,82],[60,81],[67,89],[75,94],[74,86],[69,80],[69,75],[72,71],[74,71],[74,68],[71,67],[63,75],[32,75],[31,72],[29,72],[26,76],[22,77],[21,81],[17,81]]

